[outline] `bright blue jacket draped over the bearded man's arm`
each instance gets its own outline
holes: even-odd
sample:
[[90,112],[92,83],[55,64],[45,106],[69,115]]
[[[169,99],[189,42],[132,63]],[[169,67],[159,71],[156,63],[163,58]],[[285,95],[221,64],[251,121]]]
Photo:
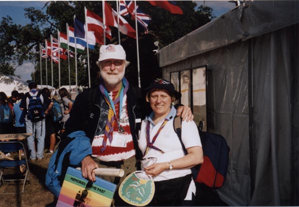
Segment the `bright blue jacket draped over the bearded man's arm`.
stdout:
[[59,146],[58,150],[52,155],[46,173],[45,184],[49,191],[57,198],[68,167],[62,165],[64,158],[68,159],[70,165],[77,167],[81,165],[84,157],[92,154],[90,139],[84,131],[74,131],[68,135],[67,139],[69,141],[66,146],[64,148]]

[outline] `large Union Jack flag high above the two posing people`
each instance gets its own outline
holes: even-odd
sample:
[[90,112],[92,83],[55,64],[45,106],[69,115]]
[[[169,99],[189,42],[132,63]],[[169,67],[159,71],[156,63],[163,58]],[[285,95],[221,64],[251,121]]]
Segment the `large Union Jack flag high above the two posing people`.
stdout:
[[[140,23],[144,29],[145,33],[147,34],[149,29],[149,21],[151,20],[148,14],[145,14],[139,6],[136,4],[136,11],[137,11],[137,21]],[[121,0],[120,1],[120,15],[129,16],[131,15],[132,19],[135,19],[135,3],[134,1],[130,0]]]

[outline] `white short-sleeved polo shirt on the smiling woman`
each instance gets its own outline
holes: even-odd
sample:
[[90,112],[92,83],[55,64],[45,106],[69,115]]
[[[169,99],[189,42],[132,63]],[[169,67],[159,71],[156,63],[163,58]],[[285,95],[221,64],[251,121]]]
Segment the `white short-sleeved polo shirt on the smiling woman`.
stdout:
[[[144,158],[147,157],[155,157],[157,158],[156,163],[161,163],[161,162],[168,162],[180,157],[183,157],[184,151],[182,149],[181,143],[179,141],[179,138],[177,134],[175,133],[173,129],[173,120],[176,115],[176,109],[172,106],[170,112],[167,114],[165,118],[168,119],[168,122],[164,126],[164,128],[160,131],[158,137],[156,138],[154,142],[154,146],[157,148],[161,149],[164,151],[164,153],[159,152],[158,150],[149,148],[148,153],[145,155]],[[142,121],[141,125],[141,131],[140,131],[140,136],[139,136],[139,148],[141,151],[144,153],[146,148],[147,148],[147,138],[146,138],[146,133],[147,133],[147,123],[148,121],[150,122],[150,138],[149,140],[152,141],[153,136],[156,134],[160,126],[162,125],[163,120],[159,121],[156,125],[153,124],[152,121],[153,117],[153,112],[146,117]],[[181,132],[181,137],[182,137],[182,142],[184,143],[185,148],[189,147],[195,147],[195,146],[201,146],[200,142],[200,137],[198,133],[198,129],[196,126],[196,123],[194,121],[182,121],[182,132]],[[167,170],[163,171],[159,175],[153,177],[153,181],[163,181],[163,180],[168,180],[168,179],[173,179],[173,178],[178,178],[178,177],[183,177],[185,175],[191,174],[190,169],[175,169],[175,170]],[[194,182],[191,182],[191,185],[194,185]],[[190,187],[191,187],[190,185]],[[195,185],[194,185],[195,188]],[[193,188],[192,188],[193,189]],[[193,190],[192,190],[193,192]],[[189,194],[189,191],[188,191]],[[188,195],[187,195],[188,196]],[[190,200],[190,199],[187,199]]]

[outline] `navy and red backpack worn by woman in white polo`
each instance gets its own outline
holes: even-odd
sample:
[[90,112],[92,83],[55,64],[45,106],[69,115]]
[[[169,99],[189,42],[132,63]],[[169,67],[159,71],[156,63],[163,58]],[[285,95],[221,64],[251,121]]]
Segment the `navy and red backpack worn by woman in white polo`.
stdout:
[[[176,116],[173,121],[174,131],[180,140],[184,153],[187,150],[181,138],[181,118]],[[194,181],[203,183],[212,189],[221,188],[226,179],[230,149],[225,138],[219,134],[213,134],[199,130],[200,141],[203,150],[203,163],[193,167]]]

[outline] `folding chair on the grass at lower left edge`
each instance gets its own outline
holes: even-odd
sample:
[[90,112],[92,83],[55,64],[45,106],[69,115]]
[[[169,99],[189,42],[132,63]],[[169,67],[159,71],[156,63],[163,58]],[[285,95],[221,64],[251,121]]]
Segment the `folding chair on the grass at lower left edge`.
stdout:
[[[24,151],[24,158],[21,157],[20,151]],[[23,181],[22,185],[22,190],[20,192],[13,192],[13,193],[1,193],[1,194],[22,194],[24,192],[25,184],[28,181],[29,184],[30,182],[30,172],[29,172],[29,164],[28,164],[28,159],[27,159],[27,153],[26,153],[26,148],[23,143],[23,141],[0,141],[0,151],[2,152],[1,154],[3,155],[4,153],[8,152],[18,152],[19,159],[1,159],[0,160],[0,182],[5,185],[6,182],[10,181]],[[5,155],[3,156],[5,158]],[[22,167],[25,166],[25,173],[22,173],[21,170],[23,169]],[[17,172],[8,170],[16,168]],[[4,173],[5,171],[5,173]],[[14,173],[12,173],[14,172]]]

